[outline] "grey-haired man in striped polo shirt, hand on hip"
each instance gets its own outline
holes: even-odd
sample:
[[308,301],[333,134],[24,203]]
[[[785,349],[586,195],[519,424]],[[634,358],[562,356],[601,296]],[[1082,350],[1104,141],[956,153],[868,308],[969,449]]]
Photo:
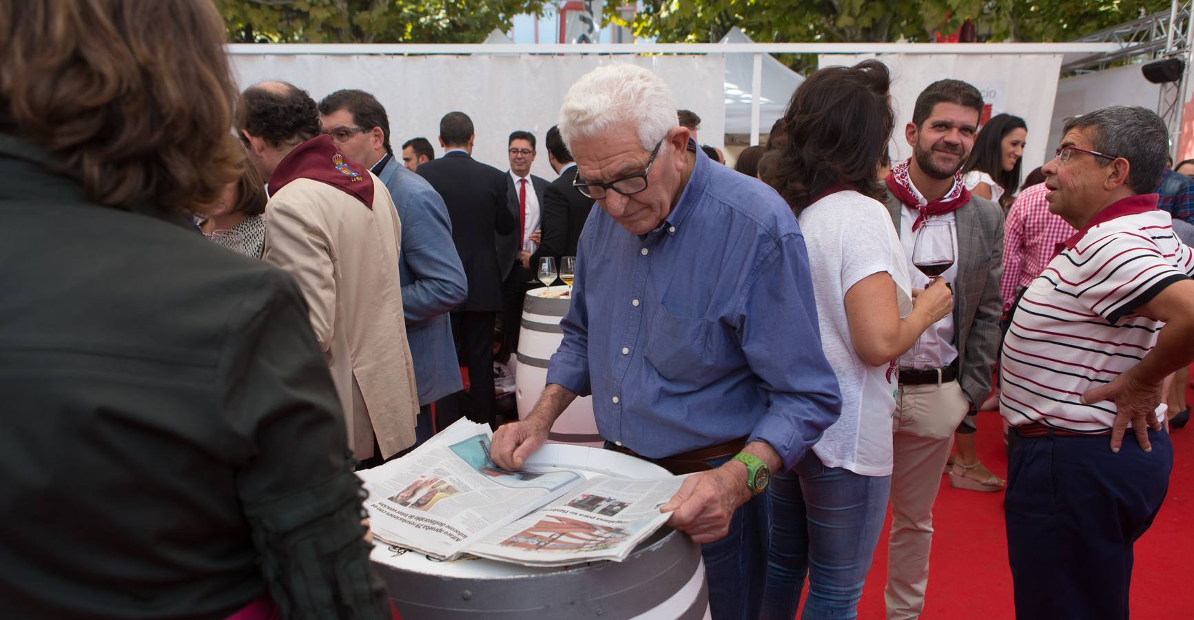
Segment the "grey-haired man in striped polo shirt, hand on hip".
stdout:
[[1046,199],[1077,232],[1003,344],[1008,557],[1016,618],[1126,620],[1132,545],[1174,464],[1162,383],[1194,362],[1194,252],[1152,194],[1168,143],[1157,115],[1103,108],[1063,134]]

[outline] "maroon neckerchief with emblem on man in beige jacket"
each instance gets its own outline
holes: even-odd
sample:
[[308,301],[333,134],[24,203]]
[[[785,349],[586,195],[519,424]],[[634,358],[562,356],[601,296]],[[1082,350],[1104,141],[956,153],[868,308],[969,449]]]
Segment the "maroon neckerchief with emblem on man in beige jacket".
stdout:
[[369,168],[344,156],[332,136],[313,137],[282,158],[270,174],[266,190],[273,196],[295,179],[312,179],[326,183],[373,209],[373,177]]

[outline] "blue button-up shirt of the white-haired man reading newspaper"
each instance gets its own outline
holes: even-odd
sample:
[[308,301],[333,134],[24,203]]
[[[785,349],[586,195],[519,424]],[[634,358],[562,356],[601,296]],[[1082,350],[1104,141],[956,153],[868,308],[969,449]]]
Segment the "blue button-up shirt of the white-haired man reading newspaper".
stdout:
[[560,326],[547,381],[592,394],[602,436],[644,456],[749,436],[790,467],[841,409],[796,219],[700,151],[651,233],[592,210]]

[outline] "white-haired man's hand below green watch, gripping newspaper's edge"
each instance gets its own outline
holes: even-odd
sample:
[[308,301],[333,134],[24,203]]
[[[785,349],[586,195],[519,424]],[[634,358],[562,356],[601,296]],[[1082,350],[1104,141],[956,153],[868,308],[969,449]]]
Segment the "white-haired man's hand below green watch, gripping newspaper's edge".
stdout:
[[669,526],[704,544],[728,534],[734,510],[750,498],[746,467],[730,461],[716,469],[689,475],[659,510],[672,514]]

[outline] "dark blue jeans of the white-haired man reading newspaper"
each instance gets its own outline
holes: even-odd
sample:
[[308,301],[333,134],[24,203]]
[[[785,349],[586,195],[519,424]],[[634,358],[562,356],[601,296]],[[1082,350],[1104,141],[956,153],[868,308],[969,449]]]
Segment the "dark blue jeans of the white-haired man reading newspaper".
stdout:
[[[613,449],[605,442],[605,449]],[[708,461],[720,467],[730,459]],[[743,480],[746,484],[746,480]],[[768,533],[771,529],[770,486],[734,510],[730,532],[701,545],[704,578],[709,587],[709,614],[714,620],[757,620],[767,583]]]

